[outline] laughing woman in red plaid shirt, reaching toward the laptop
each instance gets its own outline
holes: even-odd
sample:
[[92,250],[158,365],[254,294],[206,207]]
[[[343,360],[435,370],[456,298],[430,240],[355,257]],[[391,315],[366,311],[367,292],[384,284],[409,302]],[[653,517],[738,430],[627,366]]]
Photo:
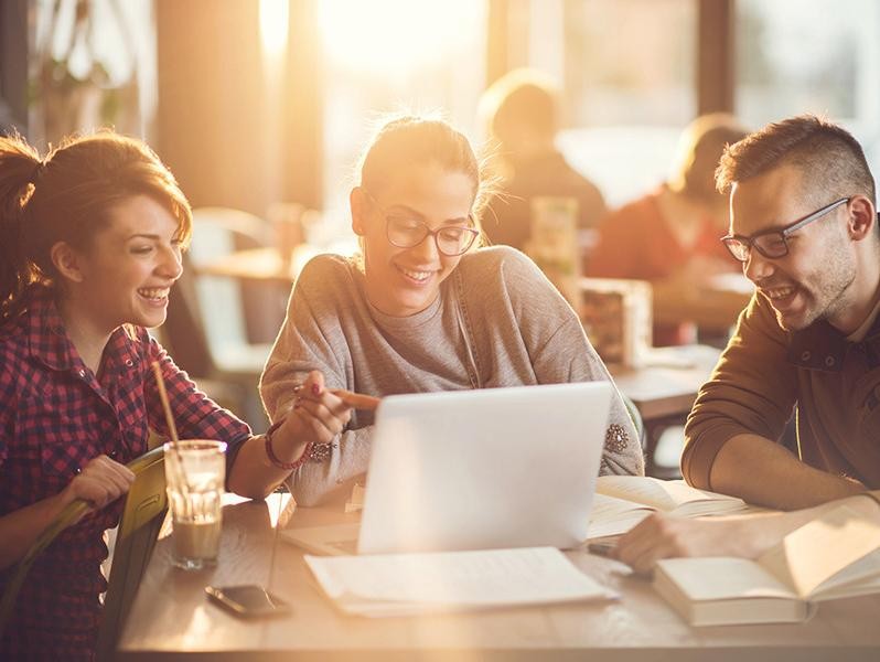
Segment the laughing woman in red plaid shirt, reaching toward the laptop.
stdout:
[[133,481],[126,462],[168,436],[151,365],[181,438],[227,442],[227,487],[262,498],[332,439],[351,408],[323,388],[255,437],[197,391],[146,331],[165,319],[191,211],[142,142],[112,132],[45,158],[0,138],[0,590],[68,503],[90,512],[35,562],[0,659],[92,660],[106,589],[105,530]]

